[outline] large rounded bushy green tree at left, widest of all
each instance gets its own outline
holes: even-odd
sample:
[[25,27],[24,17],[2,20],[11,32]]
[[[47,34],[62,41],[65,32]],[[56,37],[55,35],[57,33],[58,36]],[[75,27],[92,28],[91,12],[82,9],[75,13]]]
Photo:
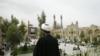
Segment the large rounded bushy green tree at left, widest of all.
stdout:
[[21,39],[22,34],[19,31],[19,28],[15,24],[11,24],[6,32],[6,40],[11,44],[11,48],[14,48],[17,44],[19,44]]

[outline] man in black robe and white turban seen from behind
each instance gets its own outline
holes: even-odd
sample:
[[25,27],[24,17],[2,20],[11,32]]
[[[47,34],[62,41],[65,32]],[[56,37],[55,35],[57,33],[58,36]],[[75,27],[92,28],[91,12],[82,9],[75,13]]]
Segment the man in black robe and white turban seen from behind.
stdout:
[[50,35],[51,27],[44,23],[41,26],[41,30],[44,37],[38,40],[33,56],[60,56],[58,41]]

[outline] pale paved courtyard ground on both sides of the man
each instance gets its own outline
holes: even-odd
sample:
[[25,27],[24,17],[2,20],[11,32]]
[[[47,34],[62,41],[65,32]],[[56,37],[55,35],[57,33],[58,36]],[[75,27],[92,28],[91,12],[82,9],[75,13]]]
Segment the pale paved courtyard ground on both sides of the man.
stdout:
[[[34,43],[36,43],[36,40],[37,39],[32,39],[32,42]],[[32,44],[32,42],[30,42],[30,44]],[[22,45],[24,45],[24,43],[22,44],[21,43],[21,46]],[[61,42],[60,44],[59,44],[59,49],[61,49],[62,50],[62,53],[61,53],[61,55],[63,56],[63,54],[64,53],[66,53],[68,56],[71,56],[71,55],[76,55],[76,54],[78,54],[80,51],[81,51],[81,53],[88,53],[88,56],[98,56],[99,55],[99,49],[95,52],[94,50],[93,50],[93,48],[88,48],[88,47],[86,47],[86,46],[79,46],[79,48],[80,48],[80,50],[73,50],[73,48],[74,47],[77,47],[77,45],[75,45],[75,44],[71,44],[71,43],[64,43],[64,42]],[[89,51],[90,50],[90,51]],[[6,52],[5,53],[5,56],[10,56],[10,53],[11,53],[11,50],[9,50],[8,52]],[[26,53],[26,54],[20,54],[20,55],[18,55],[18,56],[32,56],[33,55],[33,53]]]

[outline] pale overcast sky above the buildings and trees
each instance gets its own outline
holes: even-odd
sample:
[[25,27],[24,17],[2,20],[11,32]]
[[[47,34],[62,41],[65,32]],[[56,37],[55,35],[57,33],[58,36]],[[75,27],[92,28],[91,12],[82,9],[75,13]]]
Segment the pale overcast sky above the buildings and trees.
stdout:
[[30,21],[38,27],[37,16],[42,11],[46,14],[46,23],[53,25],[53,15],[60,24],[63,16],[63,27],[78,21],[80,27],[91,24],[100,26],[100,0],[0,0],[0,16],[11,19],[13,14],[19,21]]

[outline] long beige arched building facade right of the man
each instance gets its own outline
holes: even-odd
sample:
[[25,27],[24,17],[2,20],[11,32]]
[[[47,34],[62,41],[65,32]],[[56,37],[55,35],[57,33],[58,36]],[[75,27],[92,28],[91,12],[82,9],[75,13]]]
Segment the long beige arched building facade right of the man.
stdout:
[[100,40],[100,26],[91,25],[90,27],[79,27],[78,21],[68,25],[66,28],[53,29],[52,34],[55,36],[59,34],[62,38],[71,40],[72,42],[76,40],[81,41],[81,33],[84,33],[84,39],[88,39],[90,42],[93,42],[93,39],[98,37],[97,40]]

